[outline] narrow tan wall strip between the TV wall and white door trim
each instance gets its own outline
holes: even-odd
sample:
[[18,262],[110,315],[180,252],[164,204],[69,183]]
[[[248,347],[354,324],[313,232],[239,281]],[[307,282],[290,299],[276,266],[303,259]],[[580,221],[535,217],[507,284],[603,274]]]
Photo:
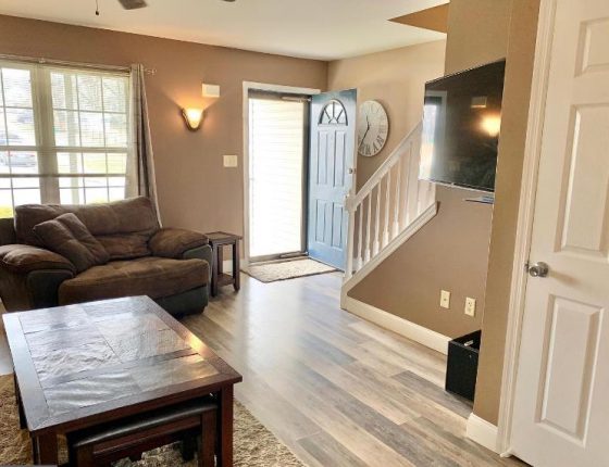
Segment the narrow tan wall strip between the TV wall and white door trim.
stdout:
[[513,0],[474,413],[497,424],[539,0]]

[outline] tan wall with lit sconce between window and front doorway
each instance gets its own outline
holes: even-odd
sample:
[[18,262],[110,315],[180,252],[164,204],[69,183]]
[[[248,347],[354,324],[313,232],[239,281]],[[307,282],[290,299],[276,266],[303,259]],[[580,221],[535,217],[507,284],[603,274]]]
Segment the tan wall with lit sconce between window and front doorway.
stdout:
[[[243,232],[243,81],[324,89],[327,63],[102,29],[0,16],[0,53],[98,64],[144,63],[163,223]],[[201,83],[222,97],[202,100]],[[186,129],[181,106],[204,104],[201,130]],[[237,154],[239,168],[223,168]]]

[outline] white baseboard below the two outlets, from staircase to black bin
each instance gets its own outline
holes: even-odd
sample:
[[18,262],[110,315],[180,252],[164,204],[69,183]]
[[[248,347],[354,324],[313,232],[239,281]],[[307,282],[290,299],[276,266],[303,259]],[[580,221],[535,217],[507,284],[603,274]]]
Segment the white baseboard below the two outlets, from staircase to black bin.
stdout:
[[358,315],[382,328],[394,331],[445,355],[448,353],[449,337],[432,331],[431,329],[400,318],[399,316],[391,315],[390,313],[369,305],[368,303],[360,302],[351,296],[346,296],[343,305],[345,310],[353,315]]

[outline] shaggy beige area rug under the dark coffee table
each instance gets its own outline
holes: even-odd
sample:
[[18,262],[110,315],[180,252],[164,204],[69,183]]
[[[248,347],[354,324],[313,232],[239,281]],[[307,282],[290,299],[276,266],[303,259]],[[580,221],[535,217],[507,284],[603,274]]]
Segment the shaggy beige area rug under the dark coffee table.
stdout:
[[[249,411],[235,401],[234,465],[302,467],[294,454],[273,433],[264,428]],[[120,460],[115,467],[197,466],[196,458],[184,463],[179,452],[169,445],[145,453],[142,459],[132,463]],[[65,441],[60,440],[61,462],[66,462]],[[0,465],[32,464],[32,445],[27,430],[20,430],[14,397],[13,377],[0,376]]]

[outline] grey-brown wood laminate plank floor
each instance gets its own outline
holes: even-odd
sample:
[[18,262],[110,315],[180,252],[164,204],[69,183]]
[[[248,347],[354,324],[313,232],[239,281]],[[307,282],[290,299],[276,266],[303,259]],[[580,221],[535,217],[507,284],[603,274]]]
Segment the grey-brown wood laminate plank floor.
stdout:
[[[339,308],[338,273],[273,283],[241,275],[182,321],[244,376],[236,397],[304,464],[519,466],[465,439],[471,405],[446,357]],[[12,363],[0,329],[0,374]]]

